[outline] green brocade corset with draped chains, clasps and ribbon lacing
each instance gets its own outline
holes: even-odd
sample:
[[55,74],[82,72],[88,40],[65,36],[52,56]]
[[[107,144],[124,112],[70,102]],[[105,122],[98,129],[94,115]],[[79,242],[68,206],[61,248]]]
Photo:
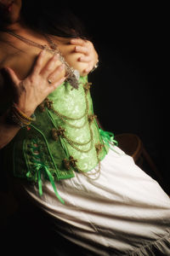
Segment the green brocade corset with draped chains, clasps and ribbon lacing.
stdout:
[[87,174],[109,150],[113,137],[97,125],[89,86],[87,77],[80,78],[78,90],[60,84],[38,106],[36,121],[5,148],[8,157],[11,152],[14,177],[38,183],[40,195],[43,177],[62,201],[54,181],[74,177],[74,172]]

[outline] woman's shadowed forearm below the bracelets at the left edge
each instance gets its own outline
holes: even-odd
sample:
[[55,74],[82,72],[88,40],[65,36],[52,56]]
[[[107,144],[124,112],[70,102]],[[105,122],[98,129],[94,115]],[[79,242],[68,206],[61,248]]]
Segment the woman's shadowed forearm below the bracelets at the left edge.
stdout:
[[15,124],[10,124],[7,121],[8,112],[4,113],[0,117],[0,149],[4,148],[10,141],[15,137],[18,131],[20,131],[20,126]]

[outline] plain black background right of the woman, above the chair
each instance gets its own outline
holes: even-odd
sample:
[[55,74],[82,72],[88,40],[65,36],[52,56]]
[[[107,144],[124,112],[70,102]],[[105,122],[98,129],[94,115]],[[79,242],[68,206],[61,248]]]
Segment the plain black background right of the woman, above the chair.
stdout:
[[71,9],[99,53],[89,81],[100,123],[115,134],[137,134],[168,183],[167,7],[86,1]]

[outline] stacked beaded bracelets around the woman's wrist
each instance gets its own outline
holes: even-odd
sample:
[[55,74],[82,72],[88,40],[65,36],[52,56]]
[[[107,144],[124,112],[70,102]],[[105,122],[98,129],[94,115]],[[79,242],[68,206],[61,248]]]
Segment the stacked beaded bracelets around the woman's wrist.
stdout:
[[17,107],[15,103],[11,106],[8,116],[8,122],[11,124],[19,125],[20,127],[25,127],[27,125],[31,125],[32,121],[36,120],[34,114],[31,117],[26,116],[26,113],[23,113],[20,108]]

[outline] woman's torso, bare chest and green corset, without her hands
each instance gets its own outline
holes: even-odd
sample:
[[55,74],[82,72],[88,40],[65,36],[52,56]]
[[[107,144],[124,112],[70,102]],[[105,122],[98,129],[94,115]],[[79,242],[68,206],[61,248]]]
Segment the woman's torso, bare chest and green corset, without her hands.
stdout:
[[[65,61],[82,73],[87,64],[78,64],[77,58],[80,55],[72,53],[74,45],[68,44],[66,39],[63,39],[62,43],[59,44],[59,49],[65,56]],[[3,44],[5,50],[3,52],[1,49],[3,55],[1,67],[8,65],[14,69],[20,79],[24,79],[31,72],[32,63],[40,49],[19,42],[17,44],[20,44],[20,49],[16,47],[12,49],[10,45],[5,48]],[[42,42],[42,44],[47,43]],[[14,46],[19,48],[18,45]],[[46,61],[49,56],[47,52]],[[53,108],[48,109],[46,102],[43,102],[45,111],[37,108],[36,122],[29,129],[27,127],[21,129],[8,145],[5,150],[7,153],[5,159],[8,158],[6,169],[11,171],[13,169],[14,176],[27,177],[37,182],[37,170],[39,173],[43,169],[48,175],[50,172],[59,180],[73,177],[73,170],[76,172],[93,170],[99,160],[105,157],[108,148],[104,147],[99,134],[90,93],[86,88],[87,77],[81,76],[79,83],[78,90],[72,90],[69,83],[54,90],[48,96],[48,100],[53,102]],[[8,84],[5,86],[6,90]],[[64,129],[64,135],[59,133],[61,128]],[[57,132],[58,137],[54,137],[54,132]],[[38,163],[37,160],[35,162],[35,150],[38,154]],[[11,152],[11,160],[8,152]]]

